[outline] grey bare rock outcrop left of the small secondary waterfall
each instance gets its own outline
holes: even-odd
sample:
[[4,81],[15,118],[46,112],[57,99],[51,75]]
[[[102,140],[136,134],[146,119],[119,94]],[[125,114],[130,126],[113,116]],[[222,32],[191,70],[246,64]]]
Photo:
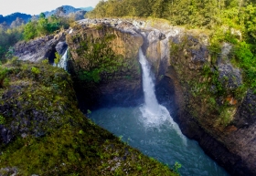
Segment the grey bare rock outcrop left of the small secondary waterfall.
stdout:
[[14,47],[14,55],[20,60],[39,62],[48,58],[49,63],[54,62],[55,48],[59,42],[65,41],[65,32],[54,36],[43,36],[28,42],[18,42]]

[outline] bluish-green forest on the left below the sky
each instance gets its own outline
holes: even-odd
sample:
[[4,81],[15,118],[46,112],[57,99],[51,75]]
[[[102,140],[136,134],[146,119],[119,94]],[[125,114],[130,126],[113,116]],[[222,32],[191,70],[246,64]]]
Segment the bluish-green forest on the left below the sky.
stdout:
[[[28,41],[38,36],[47,36],[58,30],[69,28],[75,18],[74,16],[63,16],[63,14],[63,8],[59,7],[55,15],[47,17],[41,13],[37,18],[32,17],[27,24],[22,21],[12,26],[8,26],[6,23],[0,24],[0,62],[12,58],[12,46],[18,41]],[[19,19],[21,18],[17,18],[16,21]]]

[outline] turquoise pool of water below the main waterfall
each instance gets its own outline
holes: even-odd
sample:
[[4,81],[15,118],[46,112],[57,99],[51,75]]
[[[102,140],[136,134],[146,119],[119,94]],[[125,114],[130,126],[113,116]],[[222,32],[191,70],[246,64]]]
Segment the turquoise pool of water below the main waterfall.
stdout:
[[170,167],[178,161],[182,165],[179,170],[181,175],[229,175],[201,150],[197,141],[188,140],[181,134],[169,114],[167,119],[153,119],[149,122],[143,110],[144,106],[99,109],[89,117],[102,128],[118,137],[122,136],[123,141],[132,147]]

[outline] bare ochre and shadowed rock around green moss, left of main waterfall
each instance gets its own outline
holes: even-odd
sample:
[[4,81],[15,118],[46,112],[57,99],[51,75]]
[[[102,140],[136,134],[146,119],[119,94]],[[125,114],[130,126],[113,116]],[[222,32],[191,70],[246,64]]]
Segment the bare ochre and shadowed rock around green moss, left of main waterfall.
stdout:
[[[120,26],[129,28],[122,32],[112,28],[111,26],[89,27],[85,26],[84,22],[81,27],[74,28],[73,32],[67,36],[67,43],[70,48],[70,53],[73,58],[72,70],[78,84],[75,86],[79,94],[81,109],[93,109],[93,107],[108,106],[108,105],[124,105],[129,106],[135,104],[134,99],[141,97],[141,73],[140,65],[137,59],[139,48],[143,45],[143,37],[137,33],[131,33],[129,23],[121,23]],[[82,42],[89,46],[93,45],[92,40],[97,40],[97,45],[101,46],[105,36],[113,36],[111,42],[108,44],[108,49],[114,52],[115,56],[108,56],[108,54],[100,53],[101,57],[110,57],[115,59],[119,57],[116,66],[92,68],[88,57],[81,57],[78,49]],[[113,58],[114,57],[114,58]],[[95,58],[97,59],[97,58]],[[101,61],[105,62],[105,61]],[[101,64],[99,63],[99,64]],[[108,63],[106,63],[108,65]],[[96,69],[104,69],[100,73],[100,80],[83,80],[81,77],[86,73],[91,73]],[[75,83],[76,84],[76,83]],[[86,108],[86,109],[85,109]]]

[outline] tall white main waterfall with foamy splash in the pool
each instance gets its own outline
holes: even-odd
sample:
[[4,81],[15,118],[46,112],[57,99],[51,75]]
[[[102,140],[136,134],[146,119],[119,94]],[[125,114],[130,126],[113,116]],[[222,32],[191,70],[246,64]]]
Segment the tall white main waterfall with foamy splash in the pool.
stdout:
[[169,123],[172,129],[176,130],[176,133],[183,139],[184,143],[187,143],[186,137],[182,134],[176,122],[172,119],[169,111],[162,105],[158,104],[155,97],[155,84],[150,74],[150,65],[144,57],[143,51],[139,50],[139,62],[143,71],[143,88],[144,88],[144,105],[140,108],[142,112],[141,121],[145,127],[159,127]]

